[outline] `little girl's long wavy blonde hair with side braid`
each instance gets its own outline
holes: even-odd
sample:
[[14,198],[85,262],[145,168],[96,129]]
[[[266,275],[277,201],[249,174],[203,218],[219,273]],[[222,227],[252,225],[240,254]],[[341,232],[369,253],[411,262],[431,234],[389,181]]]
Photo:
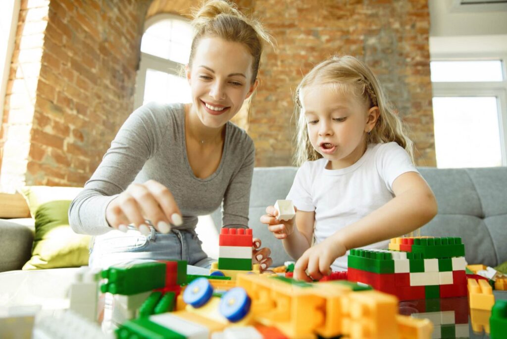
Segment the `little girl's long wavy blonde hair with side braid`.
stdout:
[[302,112],[301,90],[311,85],[331,84],[344,93],[363,99],[368,108],[377,106],[380,114],[375,127],[367,134],[367,144],[396,142],[414,161],[414,146],[407,137],[401,119],[387,101],[377,77],[367,65],[353,56],[333,56],[322,61],[301,80],[295,93],[297,134],[295,162],[300,166],[308,160],[322,158],[310,144],[305,116]]

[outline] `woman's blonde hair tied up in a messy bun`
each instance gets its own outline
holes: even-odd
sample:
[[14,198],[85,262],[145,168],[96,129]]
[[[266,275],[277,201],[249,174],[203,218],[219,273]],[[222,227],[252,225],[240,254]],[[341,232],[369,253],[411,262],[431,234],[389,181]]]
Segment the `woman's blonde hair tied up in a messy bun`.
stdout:
[[263,49],[262,40],[270,45],[271,36],[264,30],[262,24],[251,18],[247,18],[238,11],[235,4],[225,0],[211,0],[205,2],[200,9],[193,13],[192,26],[195,35],[190,50],[189,66],[197,46],[203,37],[219,37],[226,41],[243,44],[253,56],[252,81],[257,79],[259,64]]

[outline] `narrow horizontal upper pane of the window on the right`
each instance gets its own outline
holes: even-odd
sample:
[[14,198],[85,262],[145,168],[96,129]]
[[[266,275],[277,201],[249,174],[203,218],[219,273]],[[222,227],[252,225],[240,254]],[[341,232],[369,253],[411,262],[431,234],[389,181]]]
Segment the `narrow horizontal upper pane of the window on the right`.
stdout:
[[432,82],[502,81],[502,62],[484,61],[431,61]]

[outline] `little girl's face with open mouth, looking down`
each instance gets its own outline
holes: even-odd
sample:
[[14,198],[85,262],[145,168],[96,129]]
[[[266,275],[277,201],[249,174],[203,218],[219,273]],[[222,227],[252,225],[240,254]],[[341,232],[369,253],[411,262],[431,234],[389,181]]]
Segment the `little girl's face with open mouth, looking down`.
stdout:
[[363,156],[366,134],[375,126],[378,108],[369,110],[362,100],[333,84],[304,87],[300,100],[310,143],[330,160],[328,169],[348,167]]

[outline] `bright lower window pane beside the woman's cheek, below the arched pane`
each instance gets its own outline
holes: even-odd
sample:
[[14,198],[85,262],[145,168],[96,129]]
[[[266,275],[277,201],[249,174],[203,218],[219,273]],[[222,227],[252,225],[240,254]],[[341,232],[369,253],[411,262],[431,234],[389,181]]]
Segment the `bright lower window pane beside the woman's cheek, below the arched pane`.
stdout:
[[159,103],[190,103],[190,86],[186,78],[146,70],[143,104],[150,101]]

